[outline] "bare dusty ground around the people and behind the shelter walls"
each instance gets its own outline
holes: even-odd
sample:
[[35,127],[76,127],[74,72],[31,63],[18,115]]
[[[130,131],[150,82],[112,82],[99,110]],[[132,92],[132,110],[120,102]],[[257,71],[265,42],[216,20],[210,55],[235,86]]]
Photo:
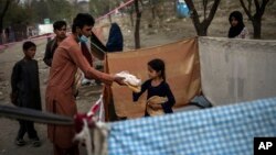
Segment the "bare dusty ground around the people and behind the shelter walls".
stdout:
[[[273,20],[266,20],[263,23],[263,34],[264,38],[275,40],[275,26],[276,23]],[[121,30],[125,38],[125,51],[134,48],[134,40],[131,31],[132,29],[127,21],[118,20],[121,25]],[[118,22],[117,21],[117,22]],[[274,20],[275,21],[275,20]],[[251,23],[246,22],[251,25]],[[104,30],[105,36],[108,33],[108,26]],[[209,32],[212,36],[225,36],[229,29],[227,19],[216,18],[211,24]],[[252,32],[252,27],[248,26]],[[152,29],[148,27],[147,22],[141,23],[141,47],[157,46],[166,43],[171,43],[190,36],[195,36],[195,31],[190,19],[178,20],[174,18],[168,19],[161,24],[153,25]],[[106,37],[105,37],[106,38]],[[44,93],[46,87],[46,79],[49,75],[49,67],[42,62],[46,38],[34,41],[38,45],[35,59],[39,60],[40,67],[40,81],[41,81],[41,95],[43,108],[44,106]],[[0,104],[12,106],[9,101],[10,92],[10,75],[12,66],[14,63],[22,58],[22,42],[10,45],[9,48],[0,51]],[[102,86],[83,86],[81,88],[79,98],[77,99],[78,110],[81,112],[86,112],[86,110],[92,106],[92,103],[98,98],[102,92]],[[25,145],[19,147],[14,145],[14,139],[19,124],[14,120],[7,118],[0,118],[0,155],[51,155],[53,154],[52,145],[46,139],[46,125],[35,124],[39,136],[42,141],[41,147],[32,147],[31,145]],[[25,136],[28,141],[28,137]],[[81,147],[81,154],[86,154],[85,150]]]

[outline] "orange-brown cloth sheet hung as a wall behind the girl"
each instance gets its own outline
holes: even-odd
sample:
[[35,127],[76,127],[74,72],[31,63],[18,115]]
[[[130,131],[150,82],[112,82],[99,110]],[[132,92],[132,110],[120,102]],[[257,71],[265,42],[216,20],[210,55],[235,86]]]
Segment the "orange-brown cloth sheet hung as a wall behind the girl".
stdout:
[[[171,91],[176,98],[173,108],[183,107],[201,90],[200,60],[198,37],[179,41],[151,48],[141,48],[124,53],[108,53],[106,70],[116,74],[128,70],[142,80],[148,79],[147,63],[152,58],[161,58],[166,63],[166,77]],[[106,120],[112,111],[114,100],[115,112],[119,118],[144,117],[146,109],[146,95],[144,93],[138,102],[132,102],[131,90],[127,87],[113,86],[105,89],[104,101]],[[108,115],[109,114],[109,115]]]

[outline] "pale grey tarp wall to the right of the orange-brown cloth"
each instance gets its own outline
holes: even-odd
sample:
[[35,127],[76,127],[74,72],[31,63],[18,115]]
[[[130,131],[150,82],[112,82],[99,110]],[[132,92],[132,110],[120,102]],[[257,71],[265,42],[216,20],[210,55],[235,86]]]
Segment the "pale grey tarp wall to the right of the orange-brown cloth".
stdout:
[[276,41],[199,37],[199,51],[213,106],[276,97]]

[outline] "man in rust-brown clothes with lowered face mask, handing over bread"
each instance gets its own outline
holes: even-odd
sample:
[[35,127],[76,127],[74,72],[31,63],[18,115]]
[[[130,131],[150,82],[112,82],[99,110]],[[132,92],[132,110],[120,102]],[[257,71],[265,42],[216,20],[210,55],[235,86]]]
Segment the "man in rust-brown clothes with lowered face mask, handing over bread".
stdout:
[[[106,85],[112,85],[113,81],[124,85],[124,78],[100,73],[93,68],[82,53],[78,43],[88,41],[87,37],[92,35],[94,23],[92,15],[78,13],[73,21],[72,34],[57,46],[50,69],[45,95],[47,111],[72,118],[77,113],[73,92],[77,68],[84,73],[86,78],[99,79]],[[50,124],[47,133],[54,145],[54,155],[79,154],[77,144],[73,143],[74,126]]]

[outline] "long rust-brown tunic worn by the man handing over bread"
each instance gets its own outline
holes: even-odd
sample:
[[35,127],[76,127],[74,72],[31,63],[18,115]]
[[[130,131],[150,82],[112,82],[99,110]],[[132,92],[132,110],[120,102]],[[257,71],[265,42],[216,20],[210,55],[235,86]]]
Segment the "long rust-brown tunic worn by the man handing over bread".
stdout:
[[[99,79],[107,85],[112,85],[114,80],[110,75],[91,67],[72,34],[66,37],[55,51],[45,95],[46,110],[49,112],[72,118],[76,114],[77,109],[73,93],[73,85],[77,68],[89,79]],[[73,126],[50,124],[47,134],[51,142],[61,148],[73,146],[73,137],[75,135]]]

